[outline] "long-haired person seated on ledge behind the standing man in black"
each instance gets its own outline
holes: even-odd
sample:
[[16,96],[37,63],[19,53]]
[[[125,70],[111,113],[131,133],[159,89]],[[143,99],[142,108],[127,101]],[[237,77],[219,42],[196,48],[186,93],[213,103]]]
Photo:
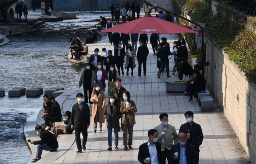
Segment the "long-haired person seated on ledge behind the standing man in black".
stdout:
[[60,125],[58,124],[57,126],[55,126],[55,128],[52,130],[53,134],[55,135],[56,138],[58,138],[59,134],[72,134],[72,132],[74,131],[74,128],[71,128],[71,112],[70,111],[66,111],[65,112],[65,117],[67,118],[66,121],[63,121],[64,124],[66,124],[67,126],[64,125]]

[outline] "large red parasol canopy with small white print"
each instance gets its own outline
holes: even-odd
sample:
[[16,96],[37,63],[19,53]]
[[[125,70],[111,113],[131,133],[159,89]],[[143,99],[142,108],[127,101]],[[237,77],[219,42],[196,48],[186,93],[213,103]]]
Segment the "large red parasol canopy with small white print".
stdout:
[[159,33],[159,34],[176,34],[176,33],[199,33],[190,28],[156,18],[154,16],[144,16],[142,18],[127,22],[103,30],[101,32],[120,32],[124,34],[136,34],[136,33]]

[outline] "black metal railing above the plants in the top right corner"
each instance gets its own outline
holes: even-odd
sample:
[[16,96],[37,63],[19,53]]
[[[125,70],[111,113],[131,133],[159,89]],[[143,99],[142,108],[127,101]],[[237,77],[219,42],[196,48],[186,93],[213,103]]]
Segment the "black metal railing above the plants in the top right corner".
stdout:
[[228,1],[234,9],[244,12],[250,16],[256,16],[256,0],[216,0],[218,2]]

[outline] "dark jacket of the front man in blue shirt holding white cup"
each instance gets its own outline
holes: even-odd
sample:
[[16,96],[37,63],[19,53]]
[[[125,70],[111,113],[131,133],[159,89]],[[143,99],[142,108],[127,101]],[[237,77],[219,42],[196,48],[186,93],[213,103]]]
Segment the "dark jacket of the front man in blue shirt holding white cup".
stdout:
[[[174,160],[174,153],[178,152],[179,156],[176,160]],[[196,149],[192,144],[187,143],[186,145],[186,160],[187,164],[198,164],[196,158]],[[180,161],[180,143],[174,144],[170,150],[170,161],[171,164],[179,164]]]

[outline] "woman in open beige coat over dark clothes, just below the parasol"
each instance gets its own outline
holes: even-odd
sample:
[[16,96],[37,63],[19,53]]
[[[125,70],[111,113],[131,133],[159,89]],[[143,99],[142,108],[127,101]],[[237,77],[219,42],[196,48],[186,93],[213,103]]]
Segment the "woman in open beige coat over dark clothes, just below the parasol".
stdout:
[[127,76],[129,75],[129,68],[132,69],[132,73],[131,75],[133,75],[133,69],[136,67],[135,64],[135,59],[133,55],[136,55],[135,51],[132,49],[132,45],[128,44],[126,46],[126,51],[125,51],[125,55],[127,56],[126,58],[126,63],[125,63],[125,69],[127,69]]

